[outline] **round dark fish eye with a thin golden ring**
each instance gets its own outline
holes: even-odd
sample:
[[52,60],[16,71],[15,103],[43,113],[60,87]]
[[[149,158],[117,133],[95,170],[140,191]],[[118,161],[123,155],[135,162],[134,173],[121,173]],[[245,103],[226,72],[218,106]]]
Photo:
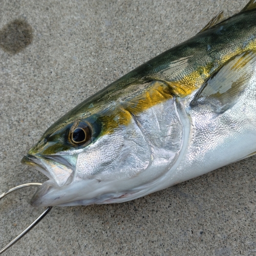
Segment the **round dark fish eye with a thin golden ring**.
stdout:
[[72,144],[81,145],[91,139],[91,130],[87,123],[75,123],[70,129],[69,140]]

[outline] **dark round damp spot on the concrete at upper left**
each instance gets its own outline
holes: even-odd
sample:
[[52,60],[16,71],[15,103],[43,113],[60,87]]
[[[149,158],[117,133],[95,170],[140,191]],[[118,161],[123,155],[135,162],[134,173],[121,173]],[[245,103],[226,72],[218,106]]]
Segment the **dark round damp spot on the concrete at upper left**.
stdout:
[[33,40],[33,29],[25,19],[14,19],[0,30],[0,47],[11,54],[16,54]]

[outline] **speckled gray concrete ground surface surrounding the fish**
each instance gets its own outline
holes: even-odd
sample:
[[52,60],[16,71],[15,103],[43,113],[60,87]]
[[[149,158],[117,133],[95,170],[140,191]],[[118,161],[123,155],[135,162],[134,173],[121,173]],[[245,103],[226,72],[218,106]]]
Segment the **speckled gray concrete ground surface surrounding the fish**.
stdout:
[[[77,103],[246,3],[1,0],[0,190],[46,180],[20,159]],[[27,37],[8,48],[13,39],[1,35],[16,19]],[[256,255],[255,164],[254,156],[127,203],[54,207],[4,255]],[[28,205],[34,190],[1,202],[1,246],[42,211]]]

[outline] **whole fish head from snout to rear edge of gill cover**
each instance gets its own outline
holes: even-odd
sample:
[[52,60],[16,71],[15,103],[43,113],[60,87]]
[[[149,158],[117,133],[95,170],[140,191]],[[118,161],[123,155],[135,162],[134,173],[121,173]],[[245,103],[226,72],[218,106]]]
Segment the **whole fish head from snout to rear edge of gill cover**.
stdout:
[[159,88],[148,83],[146,96],[128,94],[137,99],[107,88],[54,123],[22,160],[49,178],[31,204],[119,203],[151,193],[151,183],[175,162],[182,137],[175,99],[147,107],[153,86]]

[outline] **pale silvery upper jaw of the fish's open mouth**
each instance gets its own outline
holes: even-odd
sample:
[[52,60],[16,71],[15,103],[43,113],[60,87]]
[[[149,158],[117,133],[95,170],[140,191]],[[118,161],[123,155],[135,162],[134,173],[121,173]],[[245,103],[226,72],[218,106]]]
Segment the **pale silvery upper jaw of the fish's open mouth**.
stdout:
[[[76,160],[76,156],[72,156]],[[61,187],[72,182],[75,161],[68,161],[62,156],[32,156],[23,157],[22,163],[32,166],[49,178],[53,186]]]

